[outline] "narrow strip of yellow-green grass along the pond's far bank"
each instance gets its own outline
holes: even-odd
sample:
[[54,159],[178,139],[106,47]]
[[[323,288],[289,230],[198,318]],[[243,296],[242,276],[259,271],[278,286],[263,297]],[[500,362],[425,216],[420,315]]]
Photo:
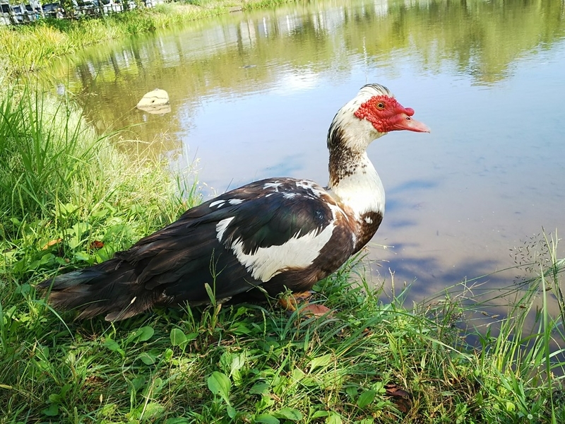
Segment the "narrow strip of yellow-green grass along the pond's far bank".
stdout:
[[0,26],[0,74],[36,71],[49,60],[90,45],[172,27],[189,20],[218,16],[233,10],[275,6],[292,0],[201,0],[159,4],[104,18],[41,20],[32,25]]

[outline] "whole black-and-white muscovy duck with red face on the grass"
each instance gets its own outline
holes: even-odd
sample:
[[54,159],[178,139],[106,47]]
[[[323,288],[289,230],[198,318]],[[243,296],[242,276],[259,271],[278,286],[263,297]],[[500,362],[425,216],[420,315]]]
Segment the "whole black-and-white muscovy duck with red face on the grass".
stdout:
[[343,106],[328,131],[329,184],[269,178],[186,211],[112,259],[49,278],[49,302],[78,318],[125,319],[153,306],[265,300],[302,292],[371,240],[384,189],[365,150],[389,131],[429,132],[379,84]]

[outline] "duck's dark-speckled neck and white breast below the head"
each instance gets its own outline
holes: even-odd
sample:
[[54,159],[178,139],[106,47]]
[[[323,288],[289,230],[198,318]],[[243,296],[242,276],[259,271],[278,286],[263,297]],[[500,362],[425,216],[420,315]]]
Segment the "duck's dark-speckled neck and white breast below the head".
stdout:
[[329,170],[328,192],[357,224],[357,252],[371,240],[383,219],[383,184],[364,151],[331,149]]

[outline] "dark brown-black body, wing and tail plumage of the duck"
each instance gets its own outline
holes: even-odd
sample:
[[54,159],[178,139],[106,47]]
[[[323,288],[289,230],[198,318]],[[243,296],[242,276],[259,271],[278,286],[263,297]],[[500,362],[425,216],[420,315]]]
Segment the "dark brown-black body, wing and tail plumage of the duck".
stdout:
[[[270,184],[272,187],[266,189]],[[51,288],[54,307],[80,309],[80,317],[107,314],[124,319],[155,305],[199,305],[209,302],[205,285],[217,299],[258,299],[290,290],[307,290],[338,269],[353,249],[352,224],[339,214],[323,256],[306,269],[282,269],[269,281],[251,275],[230,249],[242,240],[246,254],[284,245],[292,237],[319,233],[333,220],[323,189],[301,187],[302,180],[265,179],[247,184],[186,211],[179,220],[139,240],[114,259],[40,283]],[[313,184],[313,183],[310,183]],[[290,195],[292,193],[292,196]],[[232,204],[230,204],[230,200]],[[222,240],[217,225],[232,218]]]

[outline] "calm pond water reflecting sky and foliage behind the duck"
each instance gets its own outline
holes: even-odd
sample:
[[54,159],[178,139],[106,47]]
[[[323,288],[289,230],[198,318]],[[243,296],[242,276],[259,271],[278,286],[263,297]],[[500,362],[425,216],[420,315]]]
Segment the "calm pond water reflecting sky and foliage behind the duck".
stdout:
[[[50,78],[100,129],[198,158],[205,195],[263,177],[326,184],[333,115],[365,83],[387,86],[432,133],[370,146],[387,204],[369,259],[375,283],[392,272],[417,300],[565,231],[562,1],[310,1],[97,46]],[[135,109],[154,88],[172,112]]]

